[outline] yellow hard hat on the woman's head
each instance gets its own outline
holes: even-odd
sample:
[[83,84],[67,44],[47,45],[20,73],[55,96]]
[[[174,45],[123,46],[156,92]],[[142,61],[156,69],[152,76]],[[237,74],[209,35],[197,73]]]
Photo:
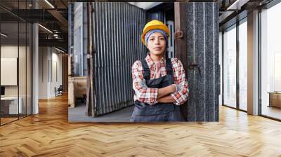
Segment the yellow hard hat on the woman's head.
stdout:
[[164,23],[159,20],[152,20],[148,22],[143,28],[143,34],[141,34],[141,41],[143,42],[143,45],[145,45],[145,34],[152,29],[162,29],[164,32],[166,32],[167,38],[169,38],[168,27],[166,27],[166,25],[164,25]]

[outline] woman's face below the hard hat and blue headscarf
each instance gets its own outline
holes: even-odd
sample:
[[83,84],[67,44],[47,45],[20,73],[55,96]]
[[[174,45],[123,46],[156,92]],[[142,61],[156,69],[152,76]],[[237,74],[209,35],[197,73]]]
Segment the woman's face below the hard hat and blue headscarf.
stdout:
[[163,55],[166,49],[166,41],[164,35],[159,32],[152,33],[148,38],[148,50],[152,55]]

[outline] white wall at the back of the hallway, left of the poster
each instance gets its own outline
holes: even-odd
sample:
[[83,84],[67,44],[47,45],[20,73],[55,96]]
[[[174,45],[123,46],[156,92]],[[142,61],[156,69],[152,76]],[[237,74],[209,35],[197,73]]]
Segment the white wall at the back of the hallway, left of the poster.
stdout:
[[61,84],[62,55],[55,48],[39,47],[39,99],[55,97]]

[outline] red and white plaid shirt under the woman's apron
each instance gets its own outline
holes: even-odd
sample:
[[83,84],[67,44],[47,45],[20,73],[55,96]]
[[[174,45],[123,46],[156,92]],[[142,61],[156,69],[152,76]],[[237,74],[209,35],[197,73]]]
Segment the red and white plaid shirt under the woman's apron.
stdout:
[[[150,54],[145,57],[145,60],[150,68],[150,79],[153,79],[156,76],[156,65],[150,57]],[[166,75],[166,60],[164,60],[164,57],[162,57],[160,64],[161,76],[164,76]],[[180,105],[188,100],[188,81],[185,78],[185,71],[181,61],[177,58],[171,58],[171,64],[173,65],[172,67],[174,71],[174,83],[181,87],[178,92],[171,93],[171,96],[174,97],[174,104]],[[135,90],[133,100],[138,100],[148,104],[156,104],[158,88],[148,88],[148,86],[146,86],[145,79],[143,78],[143,67],[141,66],[140,60],[133,63],[132,77],[133,90]]]

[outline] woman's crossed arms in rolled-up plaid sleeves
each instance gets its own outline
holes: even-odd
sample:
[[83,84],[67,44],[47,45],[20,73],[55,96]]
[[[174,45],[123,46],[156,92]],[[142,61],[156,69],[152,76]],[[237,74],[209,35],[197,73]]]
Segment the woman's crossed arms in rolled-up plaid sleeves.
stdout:
[[143,79],[141,62],[136,61],[132,66],[133,90],[136,93],[136,100],[148,104],[174,103],[183,104],[188,100],[188,82],[185,78],[185,71],[181,61],[175,59],[177,65],[174,70],[175,83],[180,87],[176,91],[176,86],[170,85],[164,88],[148,88]]

